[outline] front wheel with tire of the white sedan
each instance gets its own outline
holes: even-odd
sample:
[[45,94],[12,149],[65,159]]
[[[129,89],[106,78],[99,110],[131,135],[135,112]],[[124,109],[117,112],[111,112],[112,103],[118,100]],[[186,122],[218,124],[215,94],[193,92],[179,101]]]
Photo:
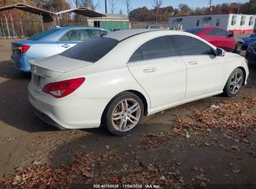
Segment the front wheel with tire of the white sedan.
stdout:
[[244,83],[244,73],[240,68],[236,68],[229,76],[225,84],[223,93],[225,96],[236,96],[242,88]]

